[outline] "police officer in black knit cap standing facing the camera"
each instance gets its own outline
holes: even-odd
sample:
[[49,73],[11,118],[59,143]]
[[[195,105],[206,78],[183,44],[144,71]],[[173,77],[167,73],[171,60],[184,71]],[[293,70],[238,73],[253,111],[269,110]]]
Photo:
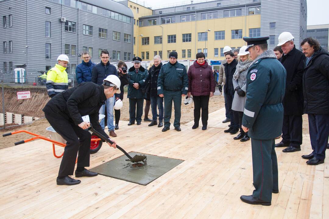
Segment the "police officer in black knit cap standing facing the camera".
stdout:
[[182,97],[189,90],[189,78],[183,64],[177,62],[177,52],[169,54],[169,62],[164,64],[158,77],[158,95],[164,97],[164,128],[163,132],[170,129],[172,101],[174,101],[176,131],[181,131],[181,105]]

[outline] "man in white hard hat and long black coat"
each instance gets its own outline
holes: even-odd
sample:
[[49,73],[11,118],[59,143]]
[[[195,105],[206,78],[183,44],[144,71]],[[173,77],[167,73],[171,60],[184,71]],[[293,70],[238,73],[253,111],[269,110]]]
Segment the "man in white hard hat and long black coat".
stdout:
[[291,33],[283,32],[279,35],[279,43],[283,56],[281,64],[287,71],[286,91],[283,98],[283,126],[282,141],[275,147],[287,147],[283,152],[300,151],[302,144],[302,115],[303,115],[303,70],[305,56],[302,51],[297,50]]

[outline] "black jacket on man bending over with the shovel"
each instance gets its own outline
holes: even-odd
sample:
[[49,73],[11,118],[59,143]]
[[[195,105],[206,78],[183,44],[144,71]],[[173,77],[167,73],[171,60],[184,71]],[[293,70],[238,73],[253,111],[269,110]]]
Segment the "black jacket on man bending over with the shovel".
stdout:
[[99,124],[99,109],[105,104],[104,87],[91,82],[81,83],[65,90],[50,99],[43,112],[73,121],[76,125],[83,122],[82,116],[89,115],[93,128],[109,137]]

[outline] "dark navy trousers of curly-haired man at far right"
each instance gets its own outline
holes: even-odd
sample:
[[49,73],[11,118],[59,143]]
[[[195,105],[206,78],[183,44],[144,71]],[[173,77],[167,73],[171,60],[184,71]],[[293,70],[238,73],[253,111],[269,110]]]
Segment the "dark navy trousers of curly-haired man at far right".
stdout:
[[310,139],[313,154],[324,160],[329,137],[329,114],[308,114]]

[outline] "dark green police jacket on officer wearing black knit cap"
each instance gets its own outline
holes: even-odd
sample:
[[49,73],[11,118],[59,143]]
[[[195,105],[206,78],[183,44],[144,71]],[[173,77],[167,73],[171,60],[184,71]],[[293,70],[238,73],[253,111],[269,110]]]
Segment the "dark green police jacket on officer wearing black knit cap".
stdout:
[[185,65],[176,62],[171,65],[170,62],[161,67],[158,77],[158,94],[163,94],[164,90],[182,91],[187,94],[189,90],[189,78]]

